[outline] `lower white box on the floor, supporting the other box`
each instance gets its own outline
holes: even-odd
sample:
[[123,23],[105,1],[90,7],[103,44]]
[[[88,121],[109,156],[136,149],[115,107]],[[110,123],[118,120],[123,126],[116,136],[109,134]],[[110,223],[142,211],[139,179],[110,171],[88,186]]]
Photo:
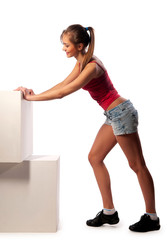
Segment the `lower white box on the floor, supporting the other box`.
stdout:
[[0,232],[56,232],[59,157],[0,163]]

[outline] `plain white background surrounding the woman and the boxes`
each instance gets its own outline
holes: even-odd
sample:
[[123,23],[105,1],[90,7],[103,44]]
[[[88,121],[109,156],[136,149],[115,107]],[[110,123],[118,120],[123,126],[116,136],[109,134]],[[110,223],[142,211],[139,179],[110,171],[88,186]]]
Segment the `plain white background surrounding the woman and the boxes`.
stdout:
[[95,55],[119,93],[139,111],[139,134],[154,181],[159,232],[134,234],[130,224],[144,213],[135,174],[118,146],[106,157],[115,227],[88,228],[102,209],[87,155],[103,124],[103,110],[79,90],[61,100],[34,102],[34,153],[61,157],[60,226],[56,234],[1,234],[3,239],[164,239],[166,230],[167,1],[0,0],[0,90],[22,85],[40,93],[62,81],[75,59],[62,51],[60,35],[71,24],[92,26]]

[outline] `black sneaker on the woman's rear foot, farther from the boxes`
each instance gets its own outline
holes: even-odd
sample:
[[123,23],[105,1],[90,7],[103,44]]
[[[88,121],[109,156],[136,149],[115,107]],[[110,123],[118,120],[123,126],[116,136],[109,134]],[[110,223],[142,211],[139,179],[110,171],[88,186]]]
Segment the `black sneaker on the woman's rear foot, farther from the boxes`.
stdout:
[[131,225],[129,229],[133,232],[148,232],[160,229],[159,218],[151,220],[150,216],[144,214],[140,221]]

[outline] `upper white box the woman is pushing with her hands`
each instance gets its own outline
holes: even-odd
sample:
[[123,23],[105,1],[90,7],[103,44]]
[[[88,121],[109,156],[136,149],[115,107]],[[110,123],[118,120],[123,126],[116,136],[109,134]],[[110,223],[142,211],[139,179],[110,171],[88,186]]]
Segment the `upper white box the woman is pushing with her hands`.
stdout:
[[32,153],[32,102],[20,91],[0,91],[0,162],[22,162]]

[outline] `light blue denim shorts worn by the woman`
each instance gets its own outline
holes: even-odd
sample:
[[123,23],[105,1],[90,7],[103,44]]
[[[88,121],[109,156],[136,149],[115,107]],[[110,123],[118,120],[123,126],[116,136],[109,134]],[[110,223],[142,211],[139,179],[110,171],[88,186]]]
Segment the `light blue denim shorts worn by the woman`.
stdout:
[[124,135],[137,132],[138,112],[130,100],[127,100],[109,111],[105,111],[107,117],[105,124],[111,125],[114,135]]

